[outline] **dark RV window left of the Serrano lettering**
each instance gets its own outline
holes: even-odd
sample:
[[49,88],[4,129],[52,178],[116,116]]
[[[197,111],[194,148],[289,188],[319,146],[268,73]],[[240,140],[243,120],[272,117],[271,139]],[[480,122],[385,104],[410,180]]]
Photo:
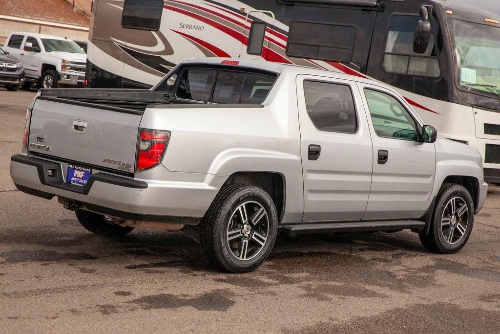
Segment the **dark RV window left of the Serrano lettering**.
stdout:
[[162,11],[163,0],[125,0],[121,26],[158,31]]

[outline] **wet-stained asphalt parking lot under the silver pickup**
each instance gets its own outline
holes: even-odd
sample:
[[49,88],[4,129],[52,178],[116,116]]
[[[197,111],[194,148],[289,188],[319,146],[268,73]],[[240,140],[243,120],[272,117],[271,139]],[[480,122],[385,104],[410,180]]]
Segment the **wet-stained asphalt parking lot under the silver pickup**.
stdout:
[[10,156],[34,94],[0,88],[2,332],[500,332],[500,187],[457,254],[409,231],[281,237],[256,271],[221,273],[179,233],[98,237],[17,191]]

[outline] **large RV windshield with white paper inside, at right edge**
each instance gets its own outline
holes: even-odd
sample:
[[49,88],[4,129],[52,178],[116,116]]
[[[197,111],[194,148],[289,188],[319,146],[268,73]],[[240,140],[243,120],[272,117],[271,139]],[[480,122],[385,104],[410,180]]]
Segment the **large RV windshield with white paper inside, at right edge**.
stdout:
[[448,24],[460,87],[500,98],[500,28],[459,20]]

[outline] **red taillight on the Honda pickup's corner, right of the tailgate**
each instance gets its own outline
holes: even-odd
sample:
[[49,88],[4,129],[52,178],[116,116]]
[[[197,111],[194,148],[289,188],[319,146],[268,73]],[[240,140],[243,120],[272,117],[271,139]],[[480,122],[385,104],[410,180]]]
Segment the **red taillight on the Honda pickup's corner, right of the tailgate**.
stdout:
[[165,154],[168,139],[169,131],[139,129],[135,170],[142,171],[159,164]]

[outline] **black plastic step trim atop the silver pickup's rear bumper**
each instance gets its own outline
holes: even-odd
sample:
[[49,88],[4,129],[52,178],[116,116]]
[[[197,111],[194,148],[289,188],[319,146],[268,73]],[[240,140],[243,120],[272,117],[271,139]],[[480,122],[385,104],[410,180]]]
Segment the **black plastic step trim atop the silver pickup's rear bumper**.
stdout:
[[[40,183],[43,185],[47,185],[50,187],[58,188],[58,189],[63,189],[67,191],[71,191],[77,194],[82,194],[82,195],[87,195],[88,192],[90,191],[92,184],[96,181],[98,182],[103,182],[103,183],[108,183],[108,184],[113,184],[125,188],[132,188],[132,189],[146,189],[147,188],[147,183],[144,181],[138,181],[138,180],[133,180],[133,179],[127,179],[121,176],[117,175],[111,175],[107,173],[102,173],[98,172],[95,174],[92,174],[90,178],[88,179],[87,185],[85,187],[78,187],[74,186],[71,184],[68,184],[64,182],[62,175],[60,173],[61,168],[60,164],[56,162],[51,162],[51,161],[46,161],[34,157],[27,157],[22,154],[16,154],[13,155],[10,158],[11,161],[29,165],[29,166],[35,166],[37,171],[38,171],[38,177],[40,179]],[[57,176],[56,177],[50,177],[46,174],[47,169],[55,169],[57,170]]]

